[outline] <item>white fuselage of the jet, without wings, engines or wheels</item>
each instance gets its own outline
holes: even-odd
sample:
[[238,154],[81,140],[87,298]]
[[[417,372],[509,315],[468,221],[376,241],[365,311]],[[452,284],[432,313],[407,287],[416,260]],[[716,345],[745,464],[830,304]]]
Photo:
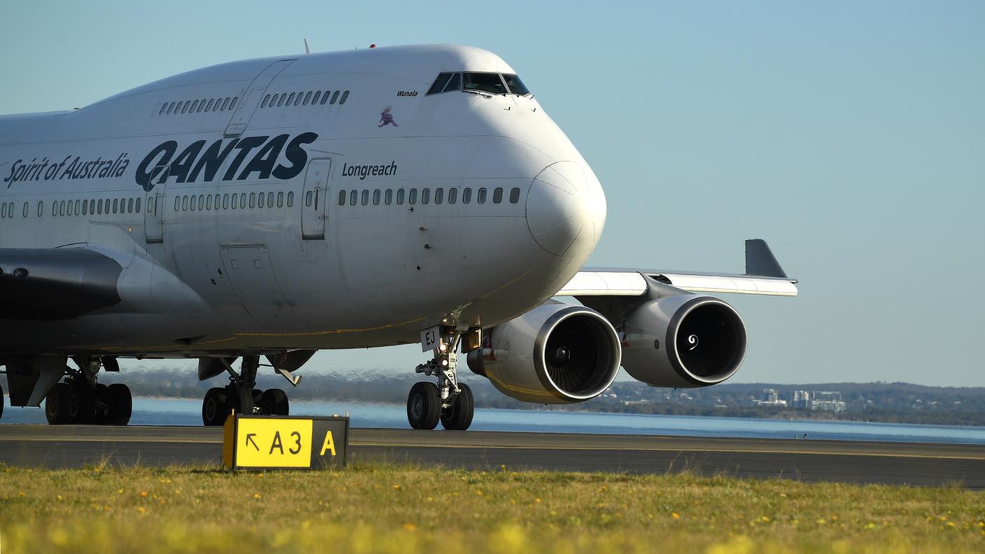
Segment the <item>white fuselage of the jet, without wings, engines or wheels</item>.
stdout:
[[123,267],[119,304],[0,319],[0,353],[382,346],[540,305],[598,242],[601,186],[532,97],[427,95],[441,72],[514,73],[471,47],[376,48],[0,117],[0,248]]

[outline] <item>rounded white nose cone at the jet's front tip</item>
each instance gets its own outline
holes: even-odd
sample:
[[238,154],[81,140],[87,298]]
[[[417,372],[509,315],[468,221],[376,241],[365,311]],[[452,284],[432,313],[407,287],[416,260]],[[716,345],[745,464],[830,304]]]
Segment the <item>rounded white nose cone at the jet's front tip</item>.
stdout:
[[534,177],[527,196],[527,226],[534,241],[548,252],[591,251],[605,222],[606,195],[584,164],[558,162]]

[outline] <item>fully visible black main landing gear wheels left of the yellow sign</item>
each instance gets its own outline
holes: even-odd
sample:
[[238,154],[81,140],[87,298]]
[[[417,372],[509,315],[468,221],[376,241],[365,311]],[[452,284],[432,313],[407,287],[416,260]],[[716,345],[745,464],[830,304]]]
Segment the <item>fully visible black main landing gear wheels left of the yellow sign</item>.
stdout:
[[99,361],[83,364],[79,371],[66,367],[66,382],[57,382],[44,398],[44,416],[50,425],[126,425],[130,422],[133,396],[121,383],[96,382]]

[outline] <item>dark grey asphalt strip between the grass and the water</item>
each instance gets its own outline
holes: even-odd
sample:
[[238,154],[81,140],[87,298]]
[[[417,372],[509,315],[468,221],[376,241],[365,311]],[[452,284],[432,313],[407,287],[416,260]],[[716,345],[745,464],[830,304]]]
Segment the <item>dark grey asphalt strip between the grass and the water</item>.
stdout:
[[[220,428],[0,425],[0,463],[8,465],[218,464],[221,453]],[[985,488],[978,445],[353,429],[350,459]]]

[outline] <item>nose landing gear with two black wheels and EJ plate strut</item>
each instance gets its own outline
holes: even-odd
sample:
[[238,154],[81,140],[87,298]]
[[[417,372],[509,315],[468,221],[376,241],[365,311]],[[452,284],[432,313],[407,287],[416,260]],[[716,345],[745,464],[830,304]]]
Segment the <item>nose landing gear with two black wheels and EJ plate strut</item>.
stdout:
[[455,353],[461,333],[454,327],[441,327],[434,358],[417,367],[419,374],[437,376],[437,384],[416,382],[407,395],[407,420],[414,429],[434,429],[438,421],[451,431],[465,431],[472,425],[475,400],[468,384],[459,382]]

